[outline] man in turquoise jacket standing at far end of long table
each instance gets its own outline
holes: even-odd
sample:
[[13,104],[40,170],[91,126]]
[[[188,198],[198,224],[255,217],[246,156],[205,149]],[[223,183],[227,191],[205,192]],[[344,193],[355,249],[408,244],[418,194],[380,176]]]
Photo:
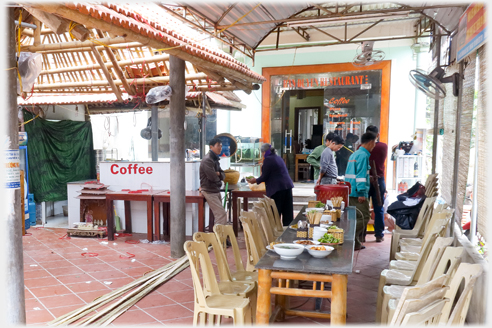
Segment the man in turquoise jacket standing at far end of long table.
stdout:
[[361,137],[360,148],[353,153],[347,164],[345,181],[350,183],[351,192],[349,195],[349,206],[355,206],[357,211],[357,224],[355,227],[354,250],[366,248],[361,244],[364,228],[371,218],[369,211],[369,156],[376,146],[376,135],[366,132]]

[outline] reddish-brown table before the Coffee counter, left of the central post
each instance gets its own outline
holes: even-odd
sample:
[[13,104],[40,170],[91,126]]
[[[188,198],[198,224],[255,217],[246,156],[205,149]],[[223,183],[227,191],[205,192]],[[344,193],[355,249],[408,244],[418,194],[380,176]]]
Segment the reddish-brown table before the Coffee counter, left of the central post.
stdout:
[[113,191],[106,194],[106,225],[108,228],[108,240],[114,240],[114,210],[113,201],[123,200],[125,201],[125,232],[132,232],[132,214],[131,214],[131,201],[147,202],[147,240],[153,241],[153,229],[152,229],[152,195],[159,193],[162,190],[154,191],[142,191],[140,193],[133,193],[132,191]]

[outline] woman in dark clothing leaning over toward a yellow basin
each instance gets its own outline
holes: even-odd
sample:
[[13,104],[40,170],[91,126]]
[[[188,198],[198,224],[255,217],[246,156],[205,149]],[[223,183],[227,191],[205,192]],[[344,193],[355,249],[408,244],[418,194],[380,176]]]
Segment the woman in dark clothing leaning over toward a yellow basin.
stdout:
[[284,160],[276,154],[270,144],[261,145],[261,155],[263,157],[261,176],[258,179],[251,178],[248,182],[257,184],[265,182],[266,195],[275,201],[277,210],[282,216],[282,224],[287,226],[294,220],[292,198],[294,184]]

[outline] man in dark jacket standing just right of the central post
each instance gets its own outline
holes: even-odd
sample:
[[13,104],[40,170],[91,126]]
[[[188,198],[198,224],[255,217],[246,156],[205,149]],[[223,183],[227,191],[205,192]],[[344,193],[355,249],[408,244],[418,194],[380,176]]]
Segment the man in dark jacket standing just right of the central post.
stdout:
[[222,142],[218,138],[208,143],[210,151],[200,163],[200,191],[207,200],[212,210],[215,224],[227,224],[227,213],[222,207],[220,187],[225,178],[224,171],[220,168],[219,154],[222,152]]

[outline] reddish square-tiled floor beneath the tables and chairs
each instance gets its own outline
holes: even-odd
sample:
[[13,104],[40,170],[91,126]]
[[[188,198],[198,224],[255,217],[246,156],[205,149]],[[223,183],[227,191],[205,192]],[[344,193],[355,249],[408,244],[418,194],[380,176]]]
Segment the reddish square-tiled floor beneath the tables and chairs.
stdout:
[[[66,229],[32,227],[23,237],[27,324],[45,324],[95,298],[124,286],[142,274],[173,261],[170,246],[129,244],[145,239],[134,234],[107,242],[97,238],[63,236]],[[347,323],[374,323],[379,273],[388,266],[391,235],[376,243],[367,236],[366,249],[355,253],[354,273],[348,279]],[[240,239],[240,244],[244,243]],[[244,247],[242,249],[244,255]],[[82,253],[97,253],[84,257]],[[135,261],[128,253],[134,254]],[[360,270],[360,273],[355,273]],[[110,284],[109,284],[110,283]],[[303,304],[305,303],[305,304]],[[313,309],[314,300],[292,298],[291,307]],[[329,302],[324,301],[325,309]],[[193,284],[189,269],[147,295],[113,325],[191,325]],[[285,323],[328,324],[327,320],[287,317]]]

